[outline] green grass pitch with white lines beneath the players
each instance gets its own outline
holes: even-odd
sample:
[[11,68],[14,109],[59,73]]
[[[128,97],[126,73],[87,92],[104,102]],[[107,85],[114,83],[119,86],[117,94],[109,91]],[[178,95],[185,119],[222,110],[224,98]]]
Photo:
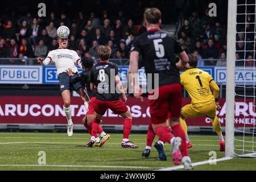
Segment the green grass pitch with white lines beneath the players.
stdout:
[[[215,135],[190,135],[193,148],[189,149],[192,163],[209,160],[209,151],[216,151],[217,159],[225,152],[219,151]],[[242,137],[241,137],[242,138]],[[252,137],[247,138],[248,140]],[[254,137],[254,140],[256,137]],[[150,157],[141,156],[146,145],[146,134],[131,134],[130,140],[139,148],[122,148],[122,134],[110,134],[101,148],[86,148],[89,134],[74,133],[0,133],[0,170],[155,170],[173,167],[170,144],[164,150],[167,161],[158,160],[158,152],[152,147]],[[154,145],[154,143],[153,143]],[[236,143],[242,147],[242,143]],[[39,151],[46,152],[46,165],[40,166]],[[256,159],[231,159],[204,164],[194,170],[256,170]]]

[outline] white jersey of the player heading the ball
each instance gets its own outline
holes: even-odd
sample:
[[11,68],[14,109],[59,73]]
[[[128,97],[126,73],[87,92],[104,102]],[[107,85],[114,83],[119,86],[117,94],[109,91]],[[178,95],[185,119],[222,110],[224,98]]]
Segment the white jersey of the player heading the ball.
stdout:
[[80,60],[80,57],[77,55],[76,51],[69,49],[56,49],[50,51],[47,57],[55,63],[58,75],[67,71],[69,68],[71,68],[73,73],[78,72],[75,64]]

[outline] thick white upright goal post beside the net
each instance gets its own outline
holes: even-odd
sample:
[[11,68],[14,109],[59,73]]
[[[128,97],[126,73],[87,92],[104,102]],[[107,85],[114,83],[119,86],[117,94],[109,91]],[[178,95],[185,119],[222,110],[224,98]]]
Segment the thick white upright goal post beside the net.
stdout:
[[226,126],[225,156],[234,157],[234,102],[235,102],[235,69],[236,69],[236,28],[237,0],[228,1],[228,39],[226,62]]

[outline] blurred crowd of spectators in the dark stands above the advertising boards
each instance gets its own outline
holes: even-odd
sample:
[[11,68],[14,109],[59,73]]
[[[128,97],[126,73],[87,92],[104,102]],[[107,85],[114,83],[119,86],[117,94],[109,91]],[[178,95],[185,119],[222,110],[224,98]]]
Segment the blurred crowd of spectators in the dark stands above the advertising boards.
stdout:
[[[128,59],[135,36],[146,32],[142,18],[147,6],[143,2],[138,1],[135,9],[139,12],[138,17],[132,18],[124,10],[118,10],[114,16],[108,10],[88,14],[77,11],[73,18],[55,11],[51,11],[46,18],[39,18],[30,12],[19,17],[10,14],[5,19],[0,16],[0,57],[46,57],[49,51],[58,48],[56,30],[65,25],[71,31],[68,48],[75,50],[79,56],[97,59],[98,45],[108,44],[112,47],[110,58]],[[227,11],[213,18],[209,16],[208,7],[204,6],[203,11],[197,9],[200,6],[198,3],[200,1],[193,1],[190,5],[183,26],[177,31],[177,39],[185,51],[199,55],[199,66],[226,66],[227,15],[223,14]],[[241,17],[242,20],[244,22],[245,17]],[[238,65],[253,66],[255,15],[247,15],[246,21],[238,26],[236,57],[237,60],[247,60],[238,61]],[[216,63],[205,59],[220,60]]]

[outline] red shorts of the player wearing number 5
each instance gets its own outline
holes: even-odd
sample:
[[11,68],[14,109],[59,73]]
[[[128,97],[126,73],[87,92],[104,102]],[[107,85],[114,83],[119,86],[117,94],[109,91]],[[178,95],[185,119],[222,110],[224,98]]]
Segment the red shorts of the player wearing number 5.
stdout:
[[164,123],[170,115],[172,118],[179,118],[182,102],[181,85],[164,85],[160,86],[158,89],[158,98],[156,100],[148,100],[151,123]]

